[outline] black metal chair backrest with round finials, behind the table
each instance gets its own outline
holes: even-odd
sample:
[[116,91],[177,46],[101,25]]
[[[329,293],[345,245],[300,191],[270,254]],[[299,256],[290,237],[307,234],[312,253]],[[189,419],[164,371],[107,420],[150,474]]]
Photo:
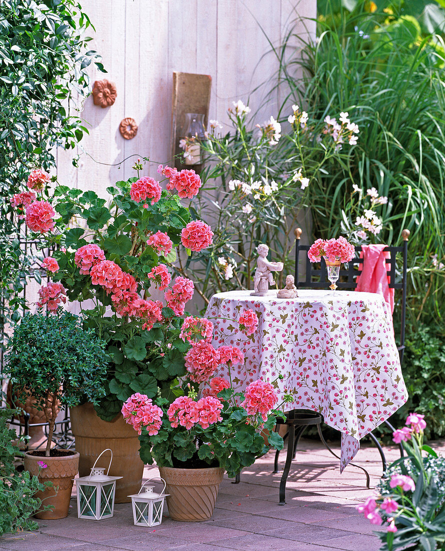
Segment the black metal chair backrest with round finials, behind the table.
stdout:
[[[309,245],[301,245],[301,235],[303,231],[301,228],[296,228],[294,231],[295,242],[295,287],[297,288],[309,288],[309,289],[324,289],[328,286],[328,274],[326,270],[326,264],[324,258],[319,263],[312,263],[308,256],[307,251],[310,249]],[[387,274],[389,277],[389,287],[393,289],[401,289],[401,327],[400,327],[400,346],[398,347],[400,353],[400,361],[403,360],[403,350],[405,348],[405,312],[406,312],[406,270],[408,262],[408,239],[409,230],[403,230],[401,235],[403,237],[403,244],[399,247],[391,246],[385,247],[384,251],[390,252],[390,258],[386,259]],[[357,276],[360,275],[363,269],[363,258],[360,258],[360,252],[362,248],[360,245],[355,247],[355,257],[352,258],[345,268],[340,268],[339,280],[336,282],[339,289],[355,289],[357,287]],[[397,268],[397,253],[402,256],[403,266],[400,273],[396,273]],[[302,279],[299,274],[300,255],[305,257],[306,277]]]

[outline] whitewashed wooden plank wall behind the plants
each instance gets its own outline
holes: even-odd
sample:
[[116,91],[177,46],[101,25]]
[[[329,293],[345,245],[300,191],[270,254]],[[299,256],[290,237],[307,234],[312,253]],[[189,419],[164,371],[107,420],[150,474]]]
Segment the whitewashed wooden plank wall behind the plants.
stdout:
[[[131,166],[146,156],[144,175],[156,176],[171,152],[172,72],[209,74],[212,78],[209,118],[227,122],[227,108],[238,99],[252,112],[264,103],[278,68],[268,39],[279,46],[292,25],[300,37],[314,35],[316,0],[83,0],[95,26],[91,49],[102,55],[108,74],[91,71],[93,80],[116,83],[114,105],[102,109],[87,98],[81,116],[89,128],[77,150],[57,153],[58,181],[94,190],[135,175]],[[269,53],[268,53],[269,52]],[[265,105],[255,122],[276,115]],[[138,124],[132,140],[121,137],[125,117]],[[79,168],[72,157],[79,154]],[[130,159],[122,162],[127,157]]]

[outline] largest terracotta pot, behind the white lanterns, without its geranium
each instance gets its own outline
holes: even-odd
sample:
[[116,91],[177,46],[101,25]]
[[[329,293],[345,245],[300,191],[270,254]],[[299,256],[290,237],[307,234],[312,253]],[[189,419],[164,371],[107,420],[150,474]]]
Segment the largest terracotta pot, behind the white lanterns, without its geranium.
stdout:
[[75,450],[80,453],[79,476],[90,474],[100,453],[110,448],[113,461],[108,474],[123,477],[116,482],[115,503],[129,503],[131,498],[128,496],[138,493],[144,473],[144,463],[139,457],[138,433],[122,415],[117,415],[112,421],[102,421],[91,403],[70,408],[70,419]]

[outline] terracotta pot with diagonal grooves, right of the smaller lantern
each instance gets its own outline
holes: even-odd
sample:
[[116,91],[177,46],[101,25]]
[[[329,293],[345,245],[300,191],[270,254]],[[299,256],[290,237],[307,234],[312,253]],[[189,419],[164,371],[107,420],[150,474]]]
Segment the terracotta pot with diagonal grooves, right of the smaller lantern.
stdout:
[[224,469],[159,467],[166,483],[167,506],[173,520],[199,522],[213,515]]

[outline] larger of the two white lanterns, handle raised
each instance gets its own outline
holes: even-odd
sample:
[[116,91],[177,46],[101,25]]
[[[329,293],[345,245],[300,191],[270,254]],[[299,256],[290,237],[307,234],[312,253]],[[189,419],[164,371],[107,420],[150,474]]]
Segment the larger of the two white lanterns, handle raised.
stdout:
[[[102,453],[111,452],[107,474],[105,467],[96,467]],[[77,516],[89,520],[101,520],[113,516],[115,508],[116,480],[123,477],[109,477],[113,452],[107,448],[97,457],[88,477],[75,478],[77,484]]]

